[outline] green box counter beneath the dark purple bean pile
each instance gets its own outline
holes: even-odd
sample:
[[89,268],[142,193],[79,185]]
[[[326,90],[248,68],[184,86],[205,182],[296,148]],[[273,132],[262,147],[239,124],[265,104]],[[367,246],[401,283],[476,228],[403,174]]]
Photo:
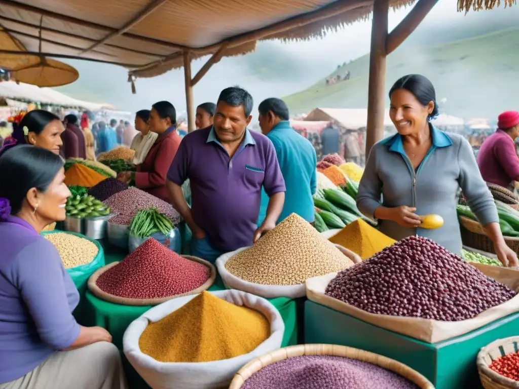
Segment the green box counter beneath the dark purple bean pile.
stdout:
[[424,374],[436,389],[479,389],[476,356],[488,343],[519,333],[519,313],[468,334],[439,343],[425,343],[305,302],[305,342],[346,345],[399,360]]

